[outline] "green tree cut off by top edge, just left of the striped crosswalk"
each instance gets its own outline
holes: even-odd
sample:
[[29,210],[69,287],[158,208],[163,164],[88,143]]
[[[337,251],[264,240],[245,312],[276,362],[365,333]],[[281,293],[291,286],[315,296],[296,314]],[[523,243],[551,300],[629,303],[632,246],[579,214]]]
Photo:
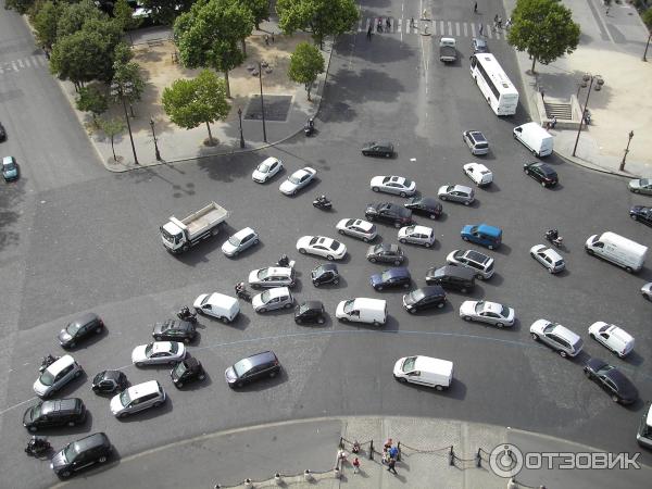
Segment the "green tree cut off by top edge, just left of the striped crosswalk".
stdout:
[[277,0],[276,12],[285,34],[310,32],[319,48],[324,37],[344,34],[359,20],[354,0]]

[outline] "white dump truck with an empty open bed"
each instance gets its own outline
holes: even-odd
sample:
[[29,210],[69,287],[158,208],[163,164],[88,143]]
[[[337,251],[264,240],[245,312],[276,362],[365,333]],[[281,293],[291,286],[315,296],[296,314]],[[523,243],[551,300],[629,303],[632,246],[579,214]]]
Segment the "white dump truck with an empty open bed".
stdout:
[[171,253],[188,251],[202,239],[220,233],[220,224],[228,217],[228,211],[222,205],[211,202],[188,217],[177,220],[175,216],[160,227],[163,246]]

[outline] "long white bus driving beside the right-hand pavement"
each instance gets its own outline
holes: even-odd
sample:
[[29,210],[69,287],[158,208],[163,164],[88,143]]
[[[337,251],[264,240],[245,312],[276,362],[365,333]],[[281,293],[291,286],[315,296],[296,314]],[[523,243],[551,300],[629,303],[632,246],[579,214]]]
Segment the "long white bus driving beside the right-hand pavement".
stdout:
[[518,91],[496,61],[493,54],[478,52],[471,57],[471,76],[496,115],[513,115],[518,105]]

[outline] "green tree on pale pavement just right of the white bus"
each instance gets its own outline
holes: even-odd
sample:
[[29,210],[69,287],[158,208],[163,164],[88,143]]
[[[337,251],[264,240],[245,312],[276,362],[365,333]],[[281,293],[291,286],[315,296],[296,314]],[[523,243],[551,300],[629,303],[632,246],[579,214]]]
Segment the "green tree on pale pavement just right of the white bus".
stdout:
[[532,59],[548,64],[559,57],[570,54],[579,42],[579,24],[573,13],[555,0],[517,0],[512,12],[507,41]]

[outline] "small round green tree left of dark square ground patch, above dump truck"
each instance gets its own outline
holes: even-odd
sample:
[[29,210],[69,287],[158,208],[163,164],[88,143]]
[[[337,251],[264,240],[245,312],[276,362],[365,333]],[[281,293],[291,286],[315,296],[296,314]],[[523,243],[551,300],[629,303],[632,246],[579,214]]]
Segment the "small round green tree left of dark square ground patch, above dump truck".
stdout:
[[195,79],[177,79],[163,90],[163,110],[179,127],[192,129],[205,123],[209,141],[213,145],[211,125],[225,120],[230,106],[226,99],[226,84],[209,70]]

